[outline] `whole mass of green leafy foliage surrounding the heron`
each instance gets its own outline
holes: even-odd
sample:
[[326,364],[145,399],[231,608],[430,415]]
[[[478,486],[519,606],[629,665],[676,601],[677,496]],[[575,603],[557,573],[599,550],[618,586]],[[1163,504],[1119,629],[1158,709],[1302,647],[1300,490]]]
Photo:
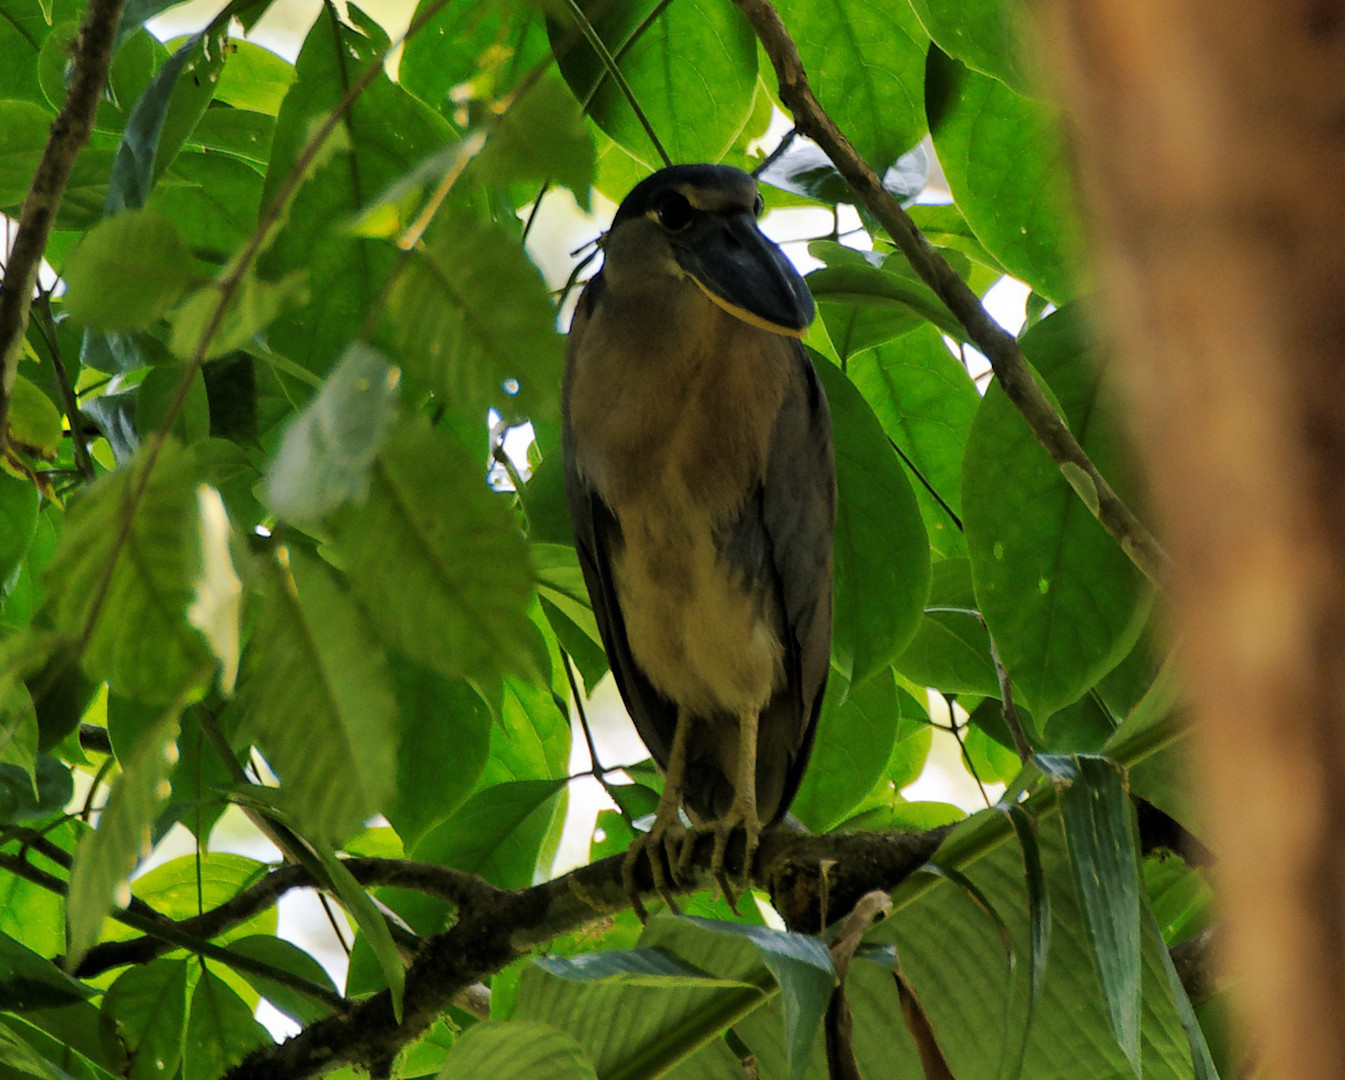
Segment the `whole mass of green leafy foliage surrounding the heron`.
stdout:
[[[317,1041],[351,1001],[399,1002],[417,939],[468,902],[383,885],[389,924],[344,859],[499,889],[550,877],[572,703],[605,662],[564,515],[561,297],[525,246],[531,211],[560,188],[619,200],[660,147],[744,168],[775,149],[773,77],[726,3],[425,3],[386,69],[391,42],[354,5],[324,8],[295,65],[246,40],[265,4],[168,46],[141,28],[159,7],[124,16],[0,475],[0,1068],[16,1075],[214,1077],[266,1053],[262,998]],[[1025,17],[779,9],[898,198],[937,155],[952,202],[911,217],[976,293],[1005,274],[1032,288],[1022,352],[1143,508]],[[0,0],[11,217],[82,16]],[[853,198],[802,140],[764,180],[775,206]],[[970,714],[975,772],[1028,798],[968,820],[896,892],[846,979],[855,1057],[869,1077],[917,1075],[905,985],[958,1077],[1213,1075],[1166,952],[1208,924],[1209,888],[1141,850],[1124,795],[1198,831],[1153,590],[1009,398],[978,393],[968,331],[862,221],[810,247],[841,514],[833,678],[795,814],[827,834],[960,819],[898,794],[939,722],[927,689]],[[523,421],[519,475],[498,448]],[[1026,765],[1006,683],[1042,755]],[[1115,765],[1080,757],[1098,752]],[[601,779],[617,808],[594,859],[625,847],[659,783]],[[344,987],[276,935],[278,872],[210,850],[229,804],[359,928]],[[176,823],[198,850],[132,878]],[[752,904],[683,908],[706,921],[612,912],[477,971],[488,1006],[460,998],[390,1068],[824,1075],[826,950]],[[116,951],[141,936],[169,947]],[[1217,1006],[1200,1019],[1223,1060]]]

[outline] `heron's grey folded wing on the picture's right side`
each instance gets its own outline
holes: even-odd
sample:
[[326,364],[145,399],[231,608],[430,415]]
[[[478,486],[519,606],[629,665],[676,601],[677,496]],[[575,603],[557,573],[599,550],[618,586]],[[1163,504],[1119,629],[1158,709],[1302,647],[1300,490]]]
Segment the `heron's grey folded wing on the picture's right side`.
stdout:
[[799,788],[831,662],[837,502],[831,414],[803,346],[779,340],[790,350],[791,370],[771,437],[760,514],[783,612],[787,683],[759,721],[763,820],[781,818]]

